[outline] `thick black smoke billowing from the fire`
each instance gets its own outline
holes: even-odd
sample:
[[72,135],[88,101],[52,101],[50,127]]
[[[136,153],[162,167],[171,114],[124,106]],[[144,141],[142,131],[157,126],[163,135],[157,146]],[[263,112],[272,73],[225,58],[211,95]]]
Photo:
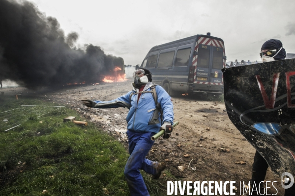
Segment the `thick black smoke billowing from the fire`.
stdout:
[[0,75],[28,88],[97,82],[123,66],[91,44],[74,47],[75,32],[65,36],[56,18],[28,1],[0,0]]

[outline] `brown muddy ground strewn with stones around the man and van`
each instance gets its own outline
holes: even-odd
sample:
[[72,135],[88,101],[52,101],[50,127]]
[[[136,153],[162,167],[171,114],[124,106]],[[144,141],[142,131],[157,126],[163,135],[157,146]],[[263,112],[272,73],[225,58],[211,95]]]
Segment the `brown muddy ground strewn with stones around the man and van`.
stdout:
[[[46,101],[66,104],[77,110],[87,121],[96,123],[125,147],[126,108],[93,109],[82,105],[80,99],[111,100],[132,90],[131,80],[125,82],[101,83],[98,85],[69,85],[56,91],[34,92],[24,88],[2,89],[5,96],[21,94],[34,96]],[[21,98],[22,96],[19,96]],[[167,184],[171,180],[169,173],[183,181],[236,181],[239,195],[239,183],[248,184],[251,179],[253,157],[255,153],[246,139],[231,123],[225,111],[225,105],[217,99],[202,100],[190,96],[172,97],[175,121],[179,122],[172,136],[163,140],[157,139],[147,158],[153,161],[165,161],[160,180]],[[227,151],[219,151],[224,148]],[[242,161],[243,165],[236,164]],[[178,171],[183,166],[184,171]],[[274,177],[270,169],[266,181],[277,181],[277,196],[284,195],[281,179]],[[272,187],[272,186],[271,186]],[[276,194],[276,189],[267,189],[267,194]]]

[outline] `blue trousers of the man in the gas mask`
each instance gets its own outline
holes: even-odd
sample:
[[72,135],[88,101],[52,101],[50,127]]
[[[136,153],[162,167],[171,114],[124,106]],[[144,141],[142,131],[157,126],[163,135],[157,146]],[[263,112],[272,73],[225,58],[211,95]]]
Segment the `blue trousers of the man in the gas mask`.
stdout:
[[139,170],[152,175],[157,173],[159,164],[146,159],[148,151],[154,144],[154,141],[150,139],[154,134],[152,132],[137,133],[130,130],[127,131],[130,156],[125,166],[124,175],[131,196],[149,196],[148,189]]

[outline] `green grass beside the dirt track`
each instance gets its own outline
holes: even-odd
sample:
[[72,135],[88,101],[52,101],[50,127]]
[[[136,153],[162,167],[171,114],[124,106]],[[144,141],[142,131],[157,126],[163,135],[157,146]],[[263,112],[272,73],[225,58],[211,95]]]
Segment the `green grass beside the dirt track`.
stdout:
[[[128,153],[122,144],[92,123],[84,127],[63,123],[67,116],[84,120],[69,108],[23,109],[22,104],[57,105],[0,98],[0,113],[15,109],[9,122],[15,117],[21,123],[9,131],[0,127],[0,178],[4,178],[0,196],[130,195],[123,174]],[[19,161],[26,164],[18,165]],[[143,175],[151,195],[164,195],[159,181]],[[43,190],[48,193],[42,194]]]

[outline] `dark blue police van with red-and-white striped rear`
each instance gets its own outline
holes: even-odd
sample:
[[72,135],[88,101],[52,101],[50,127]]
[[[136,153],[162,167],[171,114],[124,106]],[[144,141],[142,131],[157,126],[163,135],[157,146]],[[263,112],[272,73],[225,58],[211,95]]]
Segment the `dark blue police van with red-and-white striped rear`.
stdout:
[[223,40],[207,33],[155,46],[136,68],[148,69],[153,83],[171,96],[181,92],[208,97],[223,94],[225,66]]

